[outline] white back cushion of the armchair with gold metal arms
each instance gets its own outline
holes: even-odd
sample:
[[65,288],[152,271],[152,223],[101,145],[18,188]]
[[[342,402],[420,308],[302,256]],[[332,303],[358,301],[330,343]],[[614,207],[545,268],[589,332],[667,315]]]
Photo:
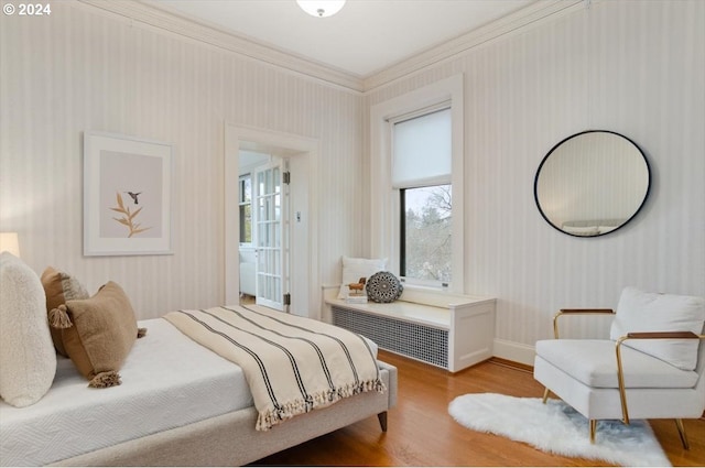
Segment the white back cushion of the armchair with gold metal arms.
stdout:
[[[634,331],[693,331],[705,323],[705,300],[675,294],[644,293],[625,287],[609,336],[617,340]],[[659,358],[683,370],[697,364],[697,339],[631,339],[625,346]]]

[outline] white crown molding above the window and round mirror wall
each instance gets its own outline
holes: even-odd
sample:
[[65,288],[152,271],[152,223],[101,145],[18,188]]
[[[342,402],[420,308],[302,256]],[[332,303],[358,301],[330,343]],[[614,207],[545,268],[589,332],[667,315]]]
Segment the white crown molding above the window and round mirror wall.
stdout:
[[513,33],[527,25],[542,22],[549,17],[555,18],[556,15],[567,14],[581,8],[589,8],[589,0],[538,0],[507,17],[368,76],[364,80],[365,92],[376,91],[399,79],[456,58],[474,47]]

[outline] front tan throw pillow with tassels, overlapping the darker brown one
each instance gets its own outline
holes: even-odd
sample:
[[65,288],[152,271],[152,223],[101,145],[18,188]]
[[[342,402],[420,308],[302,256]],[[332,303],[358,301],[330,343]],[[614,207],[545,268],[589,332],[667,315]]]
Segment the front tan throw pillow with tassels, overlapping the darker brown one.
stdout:
[[93,297],[66,301],[58,309],[70,322],[63,329],[64,348],[88,387],[119,385],[118,370],[138,338],[134,311],[122,287],[110,281]]

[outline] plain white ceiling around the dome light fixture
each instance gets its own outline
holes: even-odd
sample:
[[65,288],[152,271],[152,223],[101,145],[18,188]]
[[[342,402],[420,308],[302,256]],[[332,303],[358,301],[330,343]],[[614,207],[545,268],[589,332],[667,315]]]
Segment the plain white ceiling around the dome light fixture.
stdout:
[[143,1],[365,78],[536,0],[347,0],[329,18],[295,0]]

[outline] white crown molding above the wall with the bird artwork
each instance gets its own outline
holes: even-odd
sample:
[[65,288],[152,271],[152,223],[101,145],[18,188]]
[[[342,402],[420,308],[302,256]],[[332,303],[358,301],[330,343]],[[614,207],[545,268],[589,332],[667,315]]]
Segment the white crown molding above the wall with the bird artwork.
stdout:
[[77,1],[104,12],[126,18],[131,22],[139,22],[151,28],[199,41],[335,88],[354,91],[355,94],[360,94],[364,90],[362,79],[359,77],[290,52],[280,51],[265,44],[235,35],[213,24],[200,23],[174,12],[152,7],[140,0]]

